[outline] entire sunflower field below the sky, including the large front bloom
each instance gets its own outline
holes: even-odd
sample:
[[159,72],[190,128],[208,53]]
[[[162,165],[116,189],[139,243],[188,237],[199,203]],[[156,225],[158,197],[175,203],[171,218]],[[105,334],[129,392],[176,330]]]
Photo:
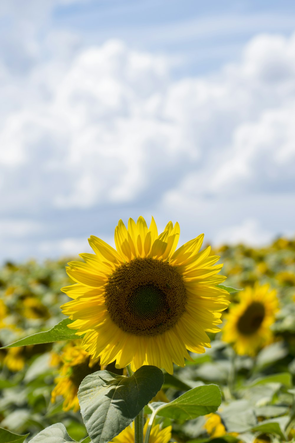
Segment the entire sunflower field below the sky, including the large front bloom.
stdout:
[[[172,247],[175,227],[167,229]],[[105,248],[97,240],[92,239],[96,255]],[[183,256],[177,253],[181,248],[170,255],[168,265],[163,251],[158,253],[161,260],[145,255],[146,244],[147,240],[138,245],[140,259],[115,268],[100,311],[96,311],[97,298],[93,301],[96,290],[88,289],[83,305],[74,294],[82,291],[79,276],[86,274],[81,259],[89,264],[90,254],[74,261],[7,262],[0,268],[0,443],[133,443],[140,441],[135,421],[132,424],[140,411],[146,442],[295,442],[295,240],[278,238],[257,249],[202,247],[193,261],[198,273],[188,268],[188,248],[181,250]],[[153,251],[153,242],[149,248]],[[152,256],[160,249],[159,243]],[[213,268],[216,256],[221,258]],[[108,269],[111,260],[101,263]],[[186,280],[170,266],[173,260]],[[219,263],[226,286],[219,279]],[[204,292],[202,305],[190,305],[185,295],[194,293],[193,279],[199,278],[200,269],[207,269],[216,295],[209,299],[215,312],[209,310],[211,326],[204,314],[209,312],[207,286],[198,287]],[[159,284],[151,287],[148,279],[140,287],[134,283],[138,272],[147,276],[170,272],[169,281],[183,295],[173,299],[173,288],[165,283],[165,291],[172,291],[167,304]],[[89,278],[87,284],[93,288]],[[105,281],[103,272],[97,278]],[[124,279],[133,282],[126,286],[126,293],[134,294],[131,301],[124,299],[125,292],[117,292]],[[123,302],[135,312],[132,322]],[[89,318],[97,319],[105,311],[110,320],[104,323],[98,344]],[[154,312],[160,313],[155,321]],[[179,324],[185,315],[188,328],[182,330]],[[174,335],[164,342],[166,330]],[[183,347],[180,338],[183,342],[187,338]],[[141,358],[143,339],[146,357]],[[114,404],[111,389],[119,385],[122,401]]]

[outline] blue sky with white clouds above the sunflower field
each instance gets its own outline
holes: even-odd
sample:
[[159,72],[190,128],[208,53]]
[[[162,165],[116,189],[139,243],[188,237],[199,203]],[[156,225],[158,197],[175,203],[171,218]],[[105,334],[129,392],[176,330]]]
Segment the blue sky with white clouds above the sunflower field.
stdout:
[[294,236],[294,120],[294,2],[3,1],[0,260]]

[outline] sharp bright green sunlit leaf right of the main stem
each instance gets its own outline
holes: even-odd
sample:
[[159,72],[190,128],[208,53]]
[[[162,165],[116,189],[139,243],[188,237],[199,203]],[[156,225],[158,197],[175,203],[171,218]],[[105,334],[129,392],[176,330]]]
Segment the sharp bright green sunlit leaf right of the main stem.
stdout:
[[221,403],[218,386],[205,385],[190,389],[170,403],[151,403],[157,415],[178,420],[193,418],[215,412]]

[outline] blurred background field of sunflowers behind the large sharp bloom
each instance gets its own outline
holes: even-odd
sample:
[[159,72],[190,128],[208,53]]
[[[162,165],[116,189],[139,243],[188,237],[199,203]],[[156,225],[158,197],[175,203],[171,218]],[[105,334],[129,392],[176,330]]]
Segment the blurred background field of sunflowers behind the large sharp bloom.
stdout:
[[[222,404],[216,413],[185,422],[158,418],[149,441],[294,441],[295,240],[278,238],[257,249],[225,245],[210,254],[221,256],[226,284],[242,290],[230,293],[222,331],[209,332],[211,348],[205,354],[191,352],[192,361],[175,366],[174,375],[165,373],[153,400],[171,401],[214,383]],[[6,263],[0,269],[1,346],[64,318],[60,306],[68,299],[60,288],[72,283],[66,261]],[[89,356],[78,337],[0,350],[0,366],[0,427],[35,435],[62,422],[77,441],[87,435],[77,399],[80,382],[99,369],[126,373]],[[113,441],[133,442],[133,428]]]

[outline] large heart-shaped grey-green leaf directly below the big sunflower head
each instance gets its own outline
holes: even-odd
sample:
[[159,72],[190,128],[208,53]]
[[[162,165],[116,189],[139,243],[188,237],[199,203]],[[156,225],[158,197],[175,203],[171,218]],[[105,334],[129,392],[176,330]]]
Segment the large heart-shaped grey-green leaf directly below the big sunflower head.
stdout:
[[164,376],[142,366],[131,377],[97,371],[84,378],[78,399],[93,443],[108,443],[127,427],[161,389]]

